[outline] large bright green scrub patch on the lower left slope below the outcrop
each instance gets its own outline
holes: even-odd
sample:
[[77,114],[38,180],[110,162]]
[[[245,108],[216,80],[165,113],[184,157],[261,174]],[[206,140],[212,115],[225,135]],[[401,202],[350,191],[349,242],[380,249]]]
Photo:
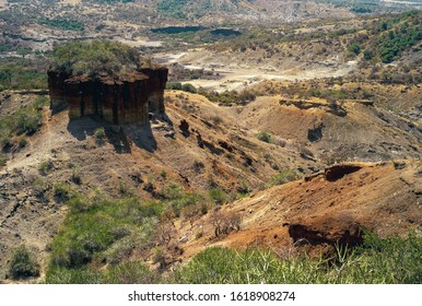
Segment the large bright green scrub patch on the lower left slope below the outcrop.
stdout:
[[[49,269],[80,269],[124,238],[145,246],[155,229],[160,205],[121,200],[68,197],[70,212],[51,244]],[[105,258],[107,260],[107,258]]]

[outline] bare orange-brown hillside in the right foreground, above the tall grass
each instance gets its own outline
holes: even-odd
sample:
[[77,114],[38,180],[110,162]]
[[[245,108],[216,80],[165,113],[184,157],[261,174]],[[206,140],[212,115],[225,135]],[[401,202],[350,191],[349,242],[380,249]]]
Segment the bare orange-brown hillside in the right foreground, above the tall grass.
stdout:
[[[254,193],[192,225],[179,223],[184,258],[210,246],[259,246],[282,258],[300,247],[319,256],[336,243],[359,244],[363,229],[406,235],[421,226],[421,166],[419,161],[345,164]],[[242,220],[241,229],[228,227],[216,237],[215,228],[231,226],[224,224],[233,215]]]

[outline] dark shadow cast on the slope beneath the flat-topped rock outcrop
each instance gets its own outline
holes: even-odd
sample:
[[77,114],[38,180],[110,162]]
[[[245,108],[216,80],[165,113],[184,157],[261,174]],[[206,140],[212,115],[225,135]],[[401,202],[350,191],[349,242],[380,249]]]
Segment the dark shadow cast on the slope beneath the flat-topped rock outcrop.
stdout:
[[79,141],[95,137],[98,145],[110,143],[119,154],[131,153],[131,143],[153,153],[157,143],[150,125],[113,126],[102,120],[84,117],[69,121],[68,131]]

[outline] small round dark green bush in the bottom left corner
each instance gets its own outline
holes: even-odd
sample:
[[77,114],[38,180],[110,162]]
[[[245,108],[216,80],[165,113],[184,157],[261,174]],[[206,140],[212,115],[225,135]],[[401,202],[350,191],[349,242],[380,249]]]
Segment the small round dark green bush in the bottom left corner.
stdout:
[[13,250],[9,262],[9,273],[12,280],[39,275],[39,264],[25,246],[20,246]]

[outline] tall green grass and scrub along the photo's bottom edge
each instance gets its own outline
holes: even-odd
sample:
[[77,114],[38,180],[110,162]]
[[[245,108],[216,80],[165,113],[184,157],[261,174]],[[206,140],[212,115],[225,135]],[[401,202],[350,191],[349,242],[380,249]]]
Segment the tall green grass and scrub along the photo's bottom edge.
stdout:
[[380,239],[366,235],[354,250],[338,247],[330,260],[295,256],[282,260],[270,250],[236,251],[212,247],[175,272],[160,274],[140,262],[125,262],[104,271],[56,267],[47,283],[192,283],[192,284],[400,284],[422,282],[422,238]]

